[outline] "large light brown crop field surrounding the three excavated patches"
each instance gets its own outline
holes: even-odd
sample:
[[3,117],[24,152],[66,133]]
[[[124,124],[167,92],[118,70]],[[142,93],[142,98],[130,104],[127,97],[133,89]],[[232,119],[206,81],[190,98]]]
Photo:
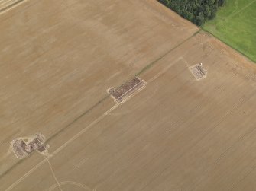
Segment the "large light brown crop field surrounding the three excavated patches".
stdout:
[[[256,189],[256,68],[219,40],[153,0],[28,0],[0,28],[0,190]],[[8,152],[36,132],[48,157]]]

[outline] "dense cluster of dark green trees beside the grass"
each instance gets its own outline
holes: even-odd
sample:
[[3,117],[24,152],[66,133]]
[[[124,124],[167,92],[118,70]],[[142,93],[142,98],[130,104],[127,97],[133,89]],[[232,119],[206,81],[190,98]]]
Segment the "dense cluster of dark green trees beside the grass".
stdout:
[[217,9],[225,4],[225,0],[158,0],[158,2],[198,26],[215,18]]

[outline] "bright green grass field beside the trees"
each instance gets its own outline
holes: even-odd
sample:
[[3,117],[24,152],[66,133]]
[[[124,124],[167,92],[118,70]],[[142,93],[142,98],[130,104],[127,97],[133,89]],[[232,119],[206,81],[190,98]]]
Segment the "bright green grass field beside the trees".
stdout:
[[256,0],[227,0],[203,30],[256,62]]

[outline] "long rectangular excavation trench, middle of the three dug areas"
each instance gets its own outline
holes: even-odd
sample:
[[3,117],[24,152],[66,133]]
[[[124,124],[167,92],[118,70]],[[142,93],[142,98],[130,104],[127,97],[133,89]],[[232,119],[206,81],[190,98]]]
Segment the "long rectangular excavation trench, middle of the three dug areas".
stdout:
[[139,91],[141,88],[143,88],[145,84],[145,81],[141,80],[140,78],[134,77],[125,84],[122,84],[121,87],[117,89],[109,88],[107,91],[109,94],[111,94],[116,102],[121,103],[123,100],[130,97],[136,91]]

